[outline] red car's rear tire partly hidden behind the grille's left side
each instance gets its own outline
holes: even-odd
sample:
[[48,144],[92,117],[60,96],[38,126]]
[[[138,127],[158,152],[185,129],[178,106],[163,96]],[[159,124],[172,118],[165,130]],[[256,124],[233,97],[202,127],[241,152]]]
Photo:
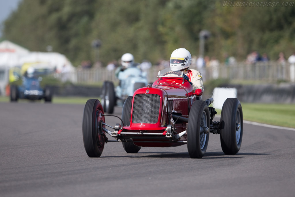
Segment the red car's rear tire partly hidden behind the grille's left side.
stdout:
[[[125,100],[122,110],[122,121],[124,122],[124,126],[130,125],[131,105],[132,96],[129,96]],[[138,153],[138,151],[141,149],[141,146],[136,146],[133,142],[122,142],[122,145],[127,153]]]

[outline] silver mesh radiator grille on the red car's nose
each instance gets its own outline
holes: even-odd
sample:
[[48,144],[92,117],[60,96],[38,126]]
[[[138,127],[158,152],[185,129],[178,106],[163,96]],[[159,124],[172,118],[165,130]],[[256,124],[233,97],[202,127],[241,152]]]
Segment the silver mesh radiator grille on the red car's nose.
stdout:
[[160,111],[160,95],[137,94],[134,96],[132,123],[155,124]]

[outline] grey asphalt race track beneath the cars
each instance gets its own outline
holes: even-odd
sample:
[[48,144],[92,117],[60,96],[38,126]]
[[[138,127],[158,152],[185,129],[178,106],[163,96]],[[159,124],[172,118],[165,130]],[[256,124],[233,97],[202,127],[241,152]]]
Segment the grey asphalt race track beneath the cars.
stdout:
[[119,142],[89,158],[83,108],[0,103],[1,197],[295,196],[295,131],[244,123],[236,155],[224,155],[211,133],[202,159],[191,159],[186,145],[127,154]]

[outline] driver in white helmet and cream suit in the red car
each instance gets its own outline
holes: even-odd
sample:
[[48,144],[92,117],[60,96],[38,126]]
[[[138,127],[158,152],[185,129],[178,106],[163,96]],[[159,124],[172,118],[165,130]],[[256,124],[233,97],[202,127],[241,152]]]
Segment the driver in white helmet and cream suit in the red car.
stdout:
[[193,86],[194,91],[201,89],[204,92],[203,79],[199,71],[189,69],[191,66],[191,53],[185,48],[178,48],[171,53],[170,68],[183,71],[184,79]]

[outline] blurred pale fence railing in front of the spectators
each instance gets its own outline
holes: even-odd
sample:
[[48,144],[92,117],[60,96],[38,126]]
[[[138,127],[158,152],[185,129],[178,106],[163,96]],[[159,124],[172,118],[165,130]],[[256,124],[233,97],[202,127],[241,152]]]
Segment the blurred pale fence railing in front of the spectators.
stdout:
[[[293,82],[295,73],[290,72],[290,67],[294,65],[279,64],[276,61],[258,62],[256,64],[246,64],[238,62],[234,65],[220,64],[214,67],[196,68],[192,65],[192,69],[201,72],[203,81],[226,78],[230,80],[255,80],[265,82],[286,81]],[[154,82],[157,79],[159,70],[158,66],[152,66],[147,70],[148,82]],[[291,69],[292,71],[292,69]],[[95,84],[108,81],[116,81],[114,71],[108,71],[106,68],[92,68],[92,69],[75,69],[73,72],[62,73],[59,75],[62,81],[71,81],[74,83]]]

